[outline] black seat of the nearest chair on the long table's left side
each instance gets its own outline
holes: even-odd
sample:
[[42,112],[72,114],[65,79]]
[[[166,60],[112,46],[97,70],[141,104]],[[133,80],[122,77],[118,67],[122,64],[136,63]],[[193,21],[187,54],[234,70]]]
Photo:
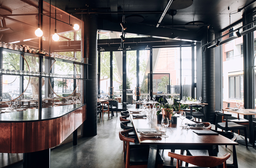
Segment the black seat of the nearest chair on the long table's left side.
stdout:
[[[130,166],[132,165],[147,165],[148,164],[149,148],[134,148],[130,149]],[[164,160],[159,153],[158,164],[164,164]]]

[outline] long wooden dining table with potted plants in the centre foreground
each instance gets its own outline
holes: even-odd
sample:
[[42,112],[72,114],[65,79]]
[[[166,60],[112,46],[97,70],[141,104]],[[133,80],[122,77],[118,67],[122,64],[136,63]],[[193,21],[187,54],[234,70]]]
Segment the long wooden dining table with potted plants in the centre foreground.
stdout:
[[[148,156],[148,168],[157,167],[157,160],[160,149],[176,149],[176,150],[208,150],[209,156],[217,156],[217,145],[238,145],[238,143],[219,135],[198,135],[193,132],[194,129],[182,129],[181,119],[177,117],[177,124],[171,124],[166,128],[164,137],[144,137],[137,132],[138,128],[155,128],[159,132],[161,121],[157,121],[156,112],[152,113],[151,118],[132,118],[132,112],[136,109],[129,109],[130,118],[134,125],[140,144],[148,144],[150,146]],[[194,123],[191,120],[184,119],[188,123]],[[206,129],[204,129],[206,130]]]

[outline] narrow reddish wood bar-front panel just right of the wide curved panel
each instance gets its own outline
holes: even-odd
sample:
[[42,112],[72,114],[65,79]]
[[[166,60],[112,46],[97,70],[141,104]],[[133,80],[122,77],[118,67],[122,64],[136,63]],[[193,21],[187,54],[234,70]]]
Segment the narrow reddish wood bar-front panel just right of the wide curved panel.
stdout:
[[75,112],[62,117],[62,141],[64,141],[75,130]]

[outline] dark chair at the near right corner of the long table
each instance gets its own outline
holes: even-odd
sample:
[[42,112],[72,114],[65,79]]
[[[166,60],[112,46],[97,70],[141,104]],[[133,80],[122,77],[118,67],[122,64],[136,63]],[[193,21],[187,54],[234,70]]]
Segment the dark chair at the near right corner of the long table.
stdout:
[[[222,131],[216,131],[212,130],[214,132],[219,133],[220,135],[232,140],[236,141],[236,135],[233,132],[222,132]],[[227,147],[227,146],[226,146]],[[221,153],[219,153],[219,147],[216,146],[217,156],[222,156]],[[188,156],[209,156],[208,150],[186,150]],[[233,162],[230,160],[227,160],[227,167],[235,167],[238,168],[237,163],[237,155],[236,155],[236,146],[233,145]],[[189,166],[188,163],[186,163],[186,167]]]

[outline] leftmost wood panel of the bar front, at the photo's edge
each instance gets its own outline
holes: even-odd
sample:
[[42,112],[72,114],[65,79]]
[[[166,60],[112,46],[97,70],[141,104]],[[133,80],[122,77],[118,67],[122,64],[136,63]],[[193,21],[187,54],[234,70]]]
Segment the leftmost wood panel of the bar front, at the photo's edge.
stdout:
[[11,123],[0,123],[1,153],[11,153]]

